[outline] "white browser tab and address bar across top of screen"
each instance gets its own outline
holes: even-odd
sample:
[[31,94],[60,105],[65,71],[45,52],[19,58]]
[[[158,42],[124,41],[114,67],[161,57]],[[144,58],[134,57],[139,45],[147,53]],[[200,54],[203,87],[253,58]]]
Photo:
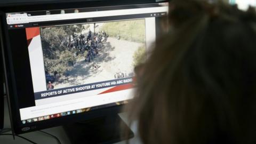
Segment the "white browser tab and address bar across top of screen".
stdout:
[[[127,10],[106,10],[106,11],[92,11],[92,12],[79,12],[75,9],[74,13],[65,13],[65,10],[60,10],[59,14],[52,14],[51,11],[44,11],[42,15],[31,15],[27,12],[25,13],[7,13],[6,20],[8,25],[15,25],[20,23],[33,23],[33,22],[51,22],[51,21],[61,21],[61,20],[79,20],[84,19],[87,22],[93,22],[92,18],[101,17],[118,17],[122,15],[137,15],[166,12],[168,11],[168,6],[157,6],[157,7],[147,7],[147,8],[136,8]],[[89,19],[88,19],[89,18]]]

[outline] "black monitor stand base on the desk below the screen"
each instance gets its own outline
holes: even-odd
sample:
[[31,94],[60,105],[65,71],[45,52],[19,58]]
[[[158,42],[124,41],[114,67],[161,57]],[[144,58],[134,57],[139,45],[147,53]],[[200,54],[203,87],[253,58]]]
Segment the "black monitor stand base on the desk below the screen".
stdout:
[[115,143],[134,137],[117,114],[63,127],[71,143]]

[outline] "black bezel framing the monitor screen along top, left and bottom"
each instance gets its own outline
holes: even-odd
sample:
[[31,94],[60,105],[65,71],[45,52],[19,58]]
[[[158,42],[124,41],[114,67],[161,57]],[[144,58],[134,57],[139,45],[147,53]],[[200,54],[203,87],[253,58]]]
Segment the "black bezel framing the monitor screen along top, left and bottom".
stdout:
[[[11,124],[13,126],[14,132],[16,134],[21,133],[27,133],[37,130],[42,130],[54,126],[64,125],[64,124],[70,124],[74,122],[79,121],[86,121],[88,119],[93,119],[101,116],[106,115],[113,115],[118,114],[121,112],[123,105],[119,106],[111,106],[108,108],[103,109],[96,109],[93,111],[87,111],[86,113],[79,113],[76,115],[69,115],[65,117],[59,117],[59,118],[53,118],[53,119],[47,119],[46,121],[39,121],[34,122],[26,125],[20,125],[20,113],[17,101],[17,90],[15,90],[15,77],[13,73],[13,66],[11,63],[11,47],[10,47],[10,39],[9,34],[7,31],[7,22],[5,19],[5,13],[9,12],[22,12],[22,11],[42,11],[42,10],[58,10],[58,9],[75,9],[75,8],[82,8],[82,7],[98,7],[98,6],[117,6],[117,5],[131,5],[131,4],[148,4],[148,3],[156,3],[152,1],[89,1],[89,2],[66,2],[66,3],[39,3],[39,4],[21,4],[19,7],[14,5],[6,5],[6,7],[2,7],[1,12],[1,22],[2,22],[2,30],[3,33],[1,34],[1,37],[3,38],[3,51],[4,51],[4,61],[5,61],[5,80],[6,80],[6,89],[7,89],[7,95],[8,95],[8,101],[9,101],[9,111],[10,111],[10,118],[11,118]],[[46,8],[45,8],[46,7]]]

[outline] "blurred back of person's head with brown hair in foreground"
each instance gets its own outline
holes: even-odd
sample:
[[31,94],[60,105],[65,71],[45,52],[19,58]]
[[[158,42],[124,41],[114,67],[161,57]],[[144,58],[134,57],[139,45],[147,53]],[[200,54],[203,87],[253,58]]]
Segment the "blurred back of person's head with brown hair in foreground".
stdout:
[[143,65],[131,114],[145,143],[255,143],[256,19],[173,1],[170,33]]

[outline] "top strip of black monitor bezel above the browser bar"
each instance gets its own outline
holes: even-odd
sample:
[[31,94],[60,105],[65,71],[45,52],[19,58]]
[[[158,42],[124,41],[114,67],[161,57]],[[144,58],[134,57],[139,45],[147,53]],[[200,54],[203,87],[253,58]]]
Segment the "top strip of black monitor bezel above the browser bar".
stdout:
[[61,10],[61,9],[78,9],[83,7],[101,7],[101,6],[118,6],[118,5],[137,5],[150,3],[169,2],[167,0],[64,0],[48,2],[23,2],[23,3],[6,3],[0,4],[3,12],[26,12],[26,11],[43,11],[43,10]]

